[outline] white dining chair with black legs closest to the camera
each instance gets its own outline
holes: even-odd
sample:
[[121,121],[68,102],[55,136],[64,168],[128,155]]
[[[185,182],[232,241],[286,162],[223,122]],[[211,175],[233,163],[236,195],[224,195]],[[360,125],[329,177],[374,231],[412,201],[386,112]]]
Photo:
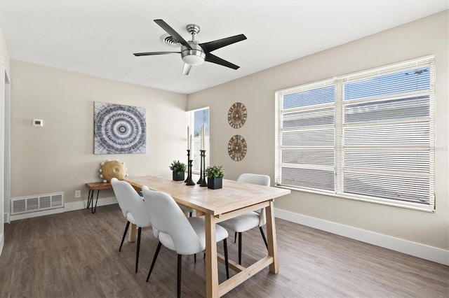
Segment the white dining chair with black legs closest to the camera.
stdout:
[[[206,248],[206,231],[204,218],[187,218],[175,200],[165,192],[149,190],[142,187],[143,198],[149,217],[152,218],[154,236],[159,244],[154,253],[152,265],[149,268],[147,281],[152,274],[154,264],[161,246],[177,253],[177,297],[181,295],[181,264],[182,255],[194,255]],[[226,278],[229,278],[229,263],[227,258],[227,230],[215,225],[216,241],[223,241],[225,253]]]

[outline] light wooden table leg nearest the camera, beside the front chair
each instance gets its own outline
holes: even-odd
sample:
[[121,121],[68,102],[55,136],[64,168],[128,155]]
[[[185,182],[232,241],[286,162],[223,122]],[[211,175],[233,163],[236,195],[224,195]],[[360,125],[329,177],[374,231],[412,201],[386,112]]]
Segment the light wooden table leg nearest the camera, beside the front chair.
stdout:
[[218,297],[215,217],[210,214],[206,214],[206,297]]

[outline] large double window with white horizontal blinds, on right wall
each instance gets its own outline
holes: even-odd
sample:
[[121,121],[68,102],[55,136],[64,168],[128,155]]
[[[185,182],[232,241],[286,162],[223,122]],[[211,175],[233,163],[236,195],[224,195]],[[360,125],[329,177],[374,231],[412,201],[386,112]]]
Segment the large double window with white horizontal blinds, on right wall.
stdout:
[[434,57],[276,92],[276,184],[434,211]]

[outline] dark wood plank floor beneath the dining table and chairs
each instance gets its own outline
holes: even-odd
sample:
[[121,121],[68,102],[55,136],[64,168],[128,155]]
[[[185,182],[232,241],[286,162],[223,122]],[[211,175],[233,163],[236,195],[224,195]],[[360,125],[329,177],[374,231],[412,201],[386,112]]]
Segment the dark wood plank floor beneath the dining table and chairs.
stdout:
[[[118,248],[126,221],[117,205],[6,225],[0,257],[0,297],[175,297],[176,255],[161,249],[145,283],[157,241],[142,232]],[[279,274],[268,269],[225,297],[448,297],[449,269],[391,250],[276,219]],[[234,234],[229,256],[236,260]],[[222,245],[218,246],[222,253]],[[258,229],[243,234],[243,265],[266,254]],[[184,257],[182,297],[204,297],[204,260]],[[219,265],[220,281],[225,278]]]

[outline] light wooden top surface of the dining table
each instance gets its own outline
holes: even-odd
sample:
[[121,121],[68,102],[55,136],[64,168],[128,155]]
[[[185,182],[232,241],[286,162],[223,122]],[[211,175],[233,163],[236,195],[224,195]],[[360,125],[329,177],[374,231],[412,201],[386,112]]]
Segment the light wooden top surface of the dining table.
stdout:
[[[198,178],[199,176],[194,178],[194,181]],[[150,190],[166,192],[177,203],[211,215],[227,213],[290,194],[290,190],[283,188],[227,179],[223,179],[223,187],[217,190],[200,187],[198,184],[185,185],[184,181],[174,181],[171,176],[127,177],[123,180],[139,189],[147,185]]]

